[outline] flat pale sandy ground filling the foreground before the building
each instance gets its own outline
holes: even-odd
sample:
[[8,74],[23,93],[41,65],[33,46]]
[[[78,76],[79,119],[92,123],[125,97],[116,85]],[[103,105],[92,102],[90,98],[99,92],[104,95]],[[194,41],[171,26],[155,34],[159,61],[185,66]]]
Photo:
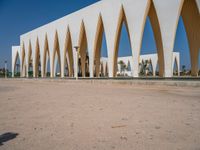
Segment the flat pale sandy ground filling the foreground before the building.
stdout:
[[200,88],[0,80],[0,150],[200,150]]

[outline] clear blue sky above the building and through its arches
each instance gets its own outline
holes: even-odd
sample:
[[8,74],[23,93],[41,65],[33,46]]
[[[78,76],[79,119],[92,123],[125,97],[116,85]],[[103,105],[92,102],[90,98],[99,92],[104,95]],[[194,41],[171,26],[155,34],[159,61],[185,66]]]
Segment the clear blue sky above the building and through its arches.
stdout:
[[[34,28],[54,21],[99,0],[0,0],[0,68],[8,60],[10,69],[11,46],[19,45],[19,36]],[[182,20],[180,19],[174,49],[181,53],[181,65],[190,66],[189,48]],[[102,54],[106,55],[105,37]],[[153,31],[147,19],[141,54],[156,52]],[[125,26],[122,28],[119,56],[131,54]]]

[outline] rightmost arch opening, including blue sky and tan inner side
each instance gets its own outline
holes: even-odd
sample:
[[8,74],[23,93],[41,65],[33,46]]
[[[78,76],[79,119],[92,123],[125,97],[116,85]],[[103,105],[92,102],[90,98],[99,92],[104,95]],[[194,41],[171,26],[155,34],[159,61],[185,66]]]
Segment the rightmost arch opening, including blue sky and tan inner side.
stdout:
[[180,53],[181,75],[197,76],[200,48],[200,14],[195,0],[184,0],[174,43]]

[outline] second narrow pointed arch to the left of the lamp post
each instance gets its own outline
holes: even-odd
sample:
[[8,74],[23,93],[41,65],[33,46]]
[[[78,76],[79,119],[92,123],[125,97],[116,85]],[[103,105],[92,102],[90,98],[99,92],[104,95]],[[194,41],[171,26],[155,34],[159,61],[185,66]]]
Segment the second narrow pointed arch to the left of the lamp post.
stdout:
[[58,40],[58,32],[55,32],[55,37],[54,37],[54,49],[53,49],[53,60],[52,60],[52,75],[55,77],[56,75],[56,67],[57,67],[57,62],[59,63],[59,70],[61,72],[61,59],[60,59],[60,46],[59,46],[59,40]]

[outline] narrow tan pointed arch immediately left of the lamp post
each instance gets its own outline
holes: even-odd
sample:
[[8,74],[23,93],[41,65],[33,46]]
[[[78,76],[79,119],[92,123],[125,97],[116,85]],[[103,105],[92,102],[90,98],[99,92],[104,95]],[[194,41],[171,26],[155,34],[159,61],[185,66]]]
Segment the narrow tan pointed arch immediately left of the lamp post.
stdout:
[[65,48],[64,48],[64,66],[67,66],[69,77],[73,76],[73,48],[72,48],[72,39],[69,27],[67,27],[67,35],[65,40]]

